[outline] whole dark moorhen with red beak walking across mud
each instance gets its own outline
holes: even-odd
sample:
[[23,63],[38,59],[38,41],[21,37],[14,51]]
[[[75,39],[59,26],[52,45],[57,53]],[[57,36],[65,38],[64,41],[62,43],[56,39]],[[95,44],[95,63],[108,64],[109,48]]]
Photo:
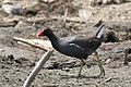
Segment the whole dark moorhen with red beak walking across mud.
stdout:
[[82,61],[81,67],[79,71],[79,77],[81,76],[81,72],[83,66],[85,65],[84,60],[92,54],[93,52],[96,55],[96,60],[98,62],[98,66],[100,69],[100,74],[98,75],[105,75],[104,67],[100,64],[98,53],[96,49],[102,45],[103,42],[103,30],[104,30],[104,24],[102,24],[98,28],[98,32],[93,37],[82,37],[82,36],[73,36],[73,37],[67,37],[67,38],[59,38],[57,37],[49,27],[43,29],[38,37],[40,36],[47,36],[49,40],[51,41],[52,47],[69,57],[78,58]]

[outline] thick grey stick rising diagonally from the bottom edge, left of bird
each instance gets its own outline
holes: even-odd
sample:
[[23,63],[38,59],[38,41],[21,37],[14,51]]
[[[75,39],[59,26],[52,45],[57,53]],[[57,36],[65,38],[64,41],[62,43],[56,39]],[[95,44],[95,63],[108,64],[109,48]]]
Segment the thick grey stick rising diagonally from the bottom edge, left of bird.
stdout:
[[40,71],[40,69],[43,67],[43,65],[46,63],[46,61],[49,60],[49,57],[52,54],[53,50],[48,50],[43,57],[41,59],[38,61],[37,65],[34,67],[34,70],[32,71],[32,73],[29,74],[29,76],[27,77],[27,79],[25,80],[23,87],[29,87],[33,79],[35,78],[35,76],[37,75],[37,73]]

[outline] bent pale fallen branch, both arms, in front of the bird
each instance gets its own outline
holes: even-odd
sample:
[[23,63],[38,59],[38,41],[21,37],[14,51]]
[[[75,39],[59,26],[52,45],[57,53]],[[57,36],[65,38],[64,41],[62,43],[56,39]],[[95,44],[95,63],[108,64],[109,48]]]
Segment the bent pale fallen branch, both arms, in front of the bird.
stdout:
[[[41,59],[38,61],[37,65],[34,67],[34,70],[32,71],[32,73],[29,74],[29,76],[27,77],[27,79],[25,80],[23,87],[29,87],[33,79],[35,78],[35,76],[37,75],[37,73],[40,71],[40,69],[43,67],[43,65],[49,60],[49,57],[52,54],[52,47],[50,41],[47,40],[39,40],[39,39],[23,39],[23,38],[17,38],[17,37],[13,37],[14,40],[16,41],[21,41],[23,44],[29,45],[32,47],[35,48],[39,48],[44,51],[47,51]],[[48,46],[48,47],[47,47]],[[51,50],[49,50],[51,49]]]

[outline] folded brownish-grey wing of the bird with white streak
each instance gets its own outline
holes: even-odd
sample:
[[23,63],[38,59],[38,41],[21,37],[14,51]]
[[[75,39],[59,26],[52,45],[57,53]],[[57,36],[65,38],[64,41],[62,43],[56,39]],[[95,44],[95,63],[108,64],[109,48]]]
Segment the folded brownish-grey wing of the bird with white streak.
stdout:
[[70,47],[86,53],[92,53],[100,46],[100,40],[96,37],[73,36],[63,39]]

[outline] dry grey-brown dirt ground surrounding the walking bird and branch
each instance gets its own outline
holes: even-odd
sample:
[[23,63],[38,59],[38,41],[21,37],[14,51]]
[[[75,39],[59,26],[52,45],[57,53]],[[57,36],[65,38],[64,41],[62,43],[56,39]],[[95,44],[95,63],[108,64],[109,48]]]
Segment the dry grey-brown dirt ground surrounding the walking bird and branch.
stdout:
[[[31,3],[32,1],[32,3]],[[107,4],[90,7],[84,0],[57,0],[40,8],[34,0],[17,0],[17,3],[26,3],[32,9],[35,5],[36,15],[10,16],[0,13],[0,87],[22,87],[26,77],[45,51],[24,46],[13,40],[12,37],[36,38],[35,35],[41,27],[49,26],[59,37],[73,35],[92,36],[96,33],[91,29],[98,21],[105,22],[105,30],[115,32],[120,39],[118,42],[103,42],[97,49],[106,75],[103,78],[70,78],[62,75],[78,74],[80,60],[63,55],[57,51],[50,57],[41,71],[34,79],[32,87],[130,87],[131,86],[131,54],[128,55],[129,65],[123,65],[124,49],[131,48],[131,2],[121,4]],[[64,24],[63,18],[68,5],[68,17],[79,17],[79,11],[87,11],[87,20],[69,20]],[[53,18],[57,16],[57,18]],[[58,17],[59,16],[59,17]],[[20,23],[22,22],[22,23]],[[43,38],[40,38],[43,39]],[[47,39],[47,38],[45,38]],[[90,55],[87,63],[91,67],[84,67],[85,76],[97,75],[98,66],[94,55]]]

